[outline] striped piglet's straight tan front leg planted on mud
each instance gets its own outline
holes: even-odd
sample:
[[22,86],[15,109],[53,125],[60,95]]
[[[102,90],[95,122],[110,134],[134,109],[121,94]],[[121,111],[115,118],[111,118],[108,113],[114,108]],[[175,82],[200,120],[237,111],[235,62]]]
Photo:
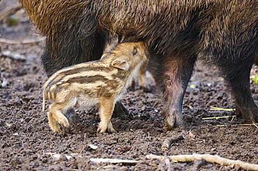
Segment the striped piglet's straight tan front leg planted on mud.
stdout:
[[105,133],[105,131],[115,132],[111,117],[114,111],[114,99],[101,98],[100,99],[100,124],[98,125],[98,133]]

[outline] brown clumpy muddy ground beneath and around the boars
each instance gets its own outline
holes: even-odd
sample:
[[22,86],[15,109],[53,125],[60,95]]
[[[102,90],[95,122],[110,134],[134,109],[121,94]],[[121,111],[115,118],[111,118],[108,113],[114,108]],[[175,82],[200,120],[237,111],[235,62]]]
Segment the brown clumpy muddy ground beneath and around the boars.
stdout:
[[[0,13],[9,3],[0,2]],[[38,38],[22,10],[13,18],[17,19],[17,26],[0,23],[1,38]],[[257,127],[236,125],[243,123],[236,117],[202,120],[203,117],[235,115],[234,111],[210,110],[211,106],[234,108],[229,88],[215,76],[211,67],[197,64],[183,103],[185,131],[191,130],[195,138],[189,137],[182,129],[163,133],[160,97],[142,90],[129,91],[123,97],[122,102],[133,115],[133,120],[112,119],[118,133],[96,134],[99,120],[96,110],[91,109],[77,112],[81,123],[72,133],[55,134],[47,124],[46,113],[41,111],[41,87],[46,79],[40,65],[44,43],[1,43],[1,47],[3,51],[24,55],[25,60],[0,58],[0,170],[239,170],[199,161],[165,163],[149,160],[147,154],[218,154],[258,163]],[[253,68],[252,74],[255,72],[257,67]],[[258,86],[251,82],[251,89],[258,104]],[[227,127],[219,127],[221,124]],[[180,139],[182,135],[183,139]],[[167,138],[179,140],[162,151],[161,145]],[[90,144],[98,148],[92,149]],[[56,155],[53,154],[61,154],[61,157],[54,158]],[[65,155],[72,158],[67,159]],[[95,164],[89,158],[135,159],[139,163]]]

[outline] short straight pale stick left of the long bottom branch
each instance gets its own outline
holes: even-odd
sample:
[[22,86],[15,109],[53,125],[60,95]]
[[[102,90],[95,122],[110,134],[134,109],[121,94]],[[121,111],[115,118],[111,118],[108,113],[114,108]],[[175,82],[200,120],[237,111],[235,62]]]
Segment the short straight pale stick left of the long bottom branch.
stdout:
[[118,159],[118,158],[90,158],[89,159],[93,163],[112,163],[112,164],[130,164],[135,165],[136,163],[139,163],[139,161],[135,160],[124,160],[124,159]]

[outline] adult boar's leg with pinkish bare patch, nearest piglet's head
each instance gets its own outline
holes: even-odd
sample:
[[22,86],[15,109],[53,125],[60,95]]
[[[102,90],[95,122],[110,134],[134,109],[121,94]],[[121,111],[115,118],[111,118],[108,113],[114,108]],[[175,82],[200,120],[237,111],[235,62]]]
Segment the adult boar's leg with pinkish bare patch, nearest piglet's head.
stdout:
[[[192,75],[196,58],[185,58],[176,54],[166,56],[163,62],[162,86],[164,93],[164,131],[183,125],[182,103],[188,81]],[[160,82],[160,81],[159,81]]]

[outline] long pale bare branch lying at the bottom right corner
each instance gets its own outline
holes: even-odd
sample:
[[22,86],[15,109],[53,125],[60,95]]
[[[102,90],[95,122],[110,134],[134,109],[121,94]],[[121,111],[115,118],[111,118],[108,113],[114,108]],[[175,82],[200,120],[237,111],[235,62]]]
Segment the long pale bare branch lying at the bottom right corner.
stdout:
[[156,156],[156,155],[147,155],[147,158],[151,159],[160,159],[165,161],[165,158],[169,158],[173,162],[192,162],[192,161],[199,161],[204,160],[210,163],[218,163],[220,165],[237,165],[240,168],[245,170],[258,170],[257,164],[252,163],[245,163],[243,161],[234,161],[227,158],[222,158],[218,155],[211,155],[211,154],[188,154],[188,155],[178,155],[178,156]]

